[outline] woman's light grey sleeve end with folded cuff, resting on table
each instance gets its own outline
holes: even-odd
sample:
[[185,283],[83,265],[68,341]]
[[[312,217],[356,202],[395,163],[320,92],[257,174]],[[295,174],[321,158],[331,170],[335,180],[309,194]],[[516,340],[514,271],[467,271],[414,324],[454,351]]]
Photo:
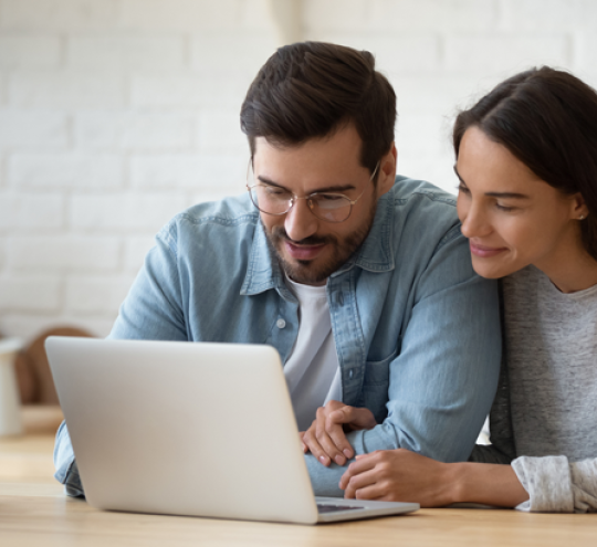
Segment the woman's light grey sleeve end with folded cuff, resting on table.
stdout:
[[597,511],[597,459],[568,462],[563,455],[521,456],[512,467],[530,499],[527,512],[593,513]]

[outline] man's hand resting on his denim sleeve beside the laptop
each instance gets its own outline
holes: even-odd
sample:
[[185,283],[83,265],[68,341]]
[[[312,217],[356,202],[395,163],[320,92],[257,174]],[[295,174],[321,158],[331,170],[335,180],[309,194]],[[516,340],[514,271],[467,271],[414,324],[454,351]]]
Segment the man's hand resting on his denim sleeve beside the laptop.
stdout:
[[345,432],[373,429],[375,425],[377,422],[369,409],[329,401],[317,409],[311,428],[300,433],[303,451],[311,451],[324,465],[329,465],[332,461],[344,465],[355,454]]

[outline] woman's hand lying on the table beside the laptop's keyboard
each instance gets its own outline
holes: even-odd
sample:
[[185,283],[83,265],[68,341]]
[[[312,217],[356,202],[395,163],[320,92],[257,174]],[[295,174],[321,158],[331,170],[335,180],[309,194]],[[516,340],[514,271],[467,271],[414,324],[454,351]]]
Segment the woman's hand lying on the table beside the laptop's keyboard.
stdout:
[[356,459],[339,482],[346,498],[418,502],[421,507],[454,501],[449,464],[405,449],[377,450]]

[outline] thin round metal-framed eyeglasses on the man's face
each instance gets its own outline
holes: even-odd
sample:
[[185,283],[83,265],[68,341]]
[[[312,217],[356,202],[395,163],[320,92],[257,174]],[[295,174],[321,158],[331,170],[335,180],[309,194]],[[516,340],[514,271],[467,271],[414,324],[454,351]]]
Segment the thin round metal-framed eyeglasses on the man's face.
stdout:
[[[369,182],[375,178],[378,168],[379,161],[375,166]],[[301,198],[277,186],[266,185],[264,182],[250,185],[251,179],[252,169],[250,162],[247,170],[247,189],[251,196],[251,201],[261,212],[275,215],[286,214],[296,200],[304,199],[311,212],[320,220],[325,220],[326,222],[344,222],[347,220],[353,211],[353,206],[362,198],[366,189],[354,200],[343,193],[334,192],[314,192]]]

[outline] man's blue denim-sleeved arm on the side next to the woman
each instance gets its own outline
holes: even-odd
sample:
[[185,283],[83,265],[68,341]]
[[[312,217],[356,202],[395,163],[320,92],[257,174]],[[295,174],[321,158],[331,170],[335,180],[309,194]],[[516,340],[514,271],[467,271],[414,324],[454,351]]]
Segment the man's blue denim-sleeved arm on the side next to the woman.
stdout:
[[[440,462],[465,461],[498,383],[496,283],[474,274],[468,241],[454,228],[412,290],[412,314],[390,364],[388,415],[346,438],[357,454],[402,448]],[[342,496],[346,467],[305,459],[315,493]]]

